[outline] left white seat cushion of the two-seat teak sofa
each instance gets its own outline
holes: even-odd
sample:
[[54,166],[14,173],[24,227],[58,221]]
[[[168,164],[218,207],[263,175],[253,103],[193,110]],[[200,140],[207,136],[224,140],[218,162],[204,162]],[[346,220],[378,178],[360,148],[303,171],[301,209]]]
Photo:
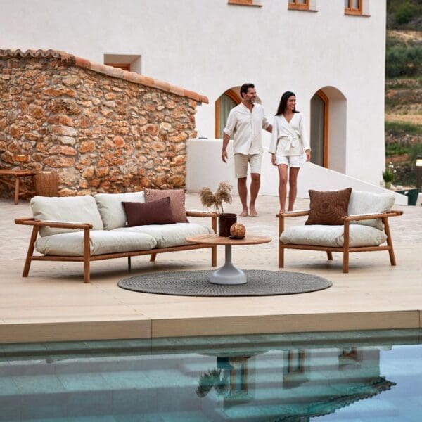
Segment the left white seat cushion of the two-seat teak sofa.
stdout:
[[[89,234],[91,255],[104,253],[129,252],[131,250],[150,250],[155,248],[155,238],[134,231],[119,232],[96,230]],[[53,234],[37,239],[35,249],[43,255],[83,256],[84,232]]]

